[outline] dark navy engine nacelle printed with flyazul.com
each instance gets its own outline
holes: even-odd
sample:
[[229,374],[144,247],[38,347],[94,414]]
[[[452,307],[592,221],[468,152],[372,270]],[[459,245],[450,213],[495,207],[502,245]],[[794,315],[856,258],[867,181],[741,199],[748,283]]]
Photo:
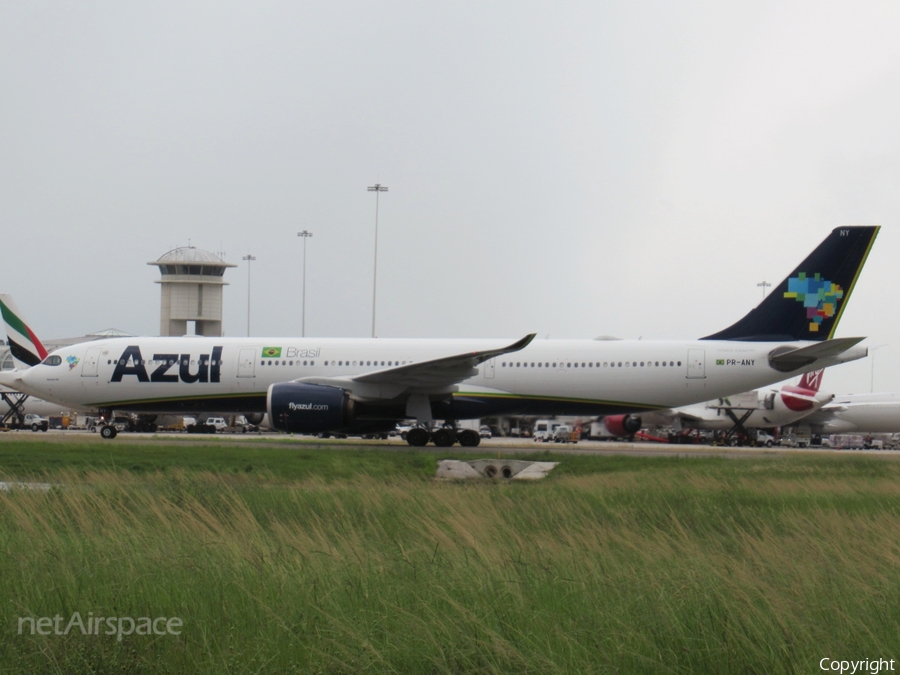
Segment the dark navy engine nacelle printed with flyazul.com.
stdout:
[[266,397],[269,424],[279,431],[314,434],[348,426],[353,400],[343,389],[303,382],[279,382]]

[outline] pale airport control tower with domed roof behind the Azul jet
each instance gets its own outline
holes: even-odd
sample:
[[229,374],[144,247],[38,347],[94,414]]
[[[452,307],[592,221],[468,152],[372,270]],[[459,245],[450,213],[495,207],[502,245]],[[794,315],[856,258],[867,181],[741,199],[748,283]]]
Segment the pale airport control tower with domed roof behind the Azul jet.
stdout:
[[173,249],[147,264],[159,267],[162,275],[156,282],[162,285],[160,335],[187,335],[189,321],[196,335],[222,335],[223,277],[226,267],[237,265],[193,246]]

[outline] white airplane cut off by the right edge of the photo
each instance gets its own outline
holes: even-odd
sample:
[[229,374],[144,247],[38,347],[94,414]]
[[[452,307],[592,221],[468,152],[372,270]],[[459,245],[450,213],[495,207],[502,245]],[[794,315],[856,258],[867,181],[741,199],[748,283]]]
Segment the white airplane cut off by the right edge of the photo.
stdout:
[[812,433],[900,433],[900,397],[896,394],[845,394],[805,418]]

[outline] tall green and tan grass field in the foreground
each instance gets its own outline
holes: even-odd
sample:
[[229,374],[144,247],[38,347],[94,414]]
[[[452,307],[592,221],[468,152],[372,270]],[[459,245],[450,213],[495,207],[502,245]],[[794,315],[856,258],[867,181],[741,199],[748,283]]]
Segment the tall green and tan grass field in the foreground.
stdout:
[[[0,672],[812,673],[900,657],[900,462],[0,442]],[[446,455],[450,456],[450,455]],[[548,459],[541,454],[540,459]],[[21,617],[180,634],[19,634]],[[104,625],[104,629],[106,625]],[[896,665],[896,664],[895,664]]]

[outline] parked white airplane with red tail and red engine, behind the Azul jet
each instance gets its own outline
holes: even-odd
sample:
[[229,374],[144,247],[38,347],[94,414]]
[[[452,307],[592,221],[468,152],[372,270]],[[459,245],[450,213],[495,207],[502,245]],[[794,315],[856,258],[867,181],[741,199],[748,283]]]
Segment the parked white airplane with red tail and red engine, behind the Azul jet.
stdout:
[[[779,389],[750,391],[735,396],[723,396],[705,403],[658,410],[641,415],[644,427],[672,426],[682,429],[712,429],[738,431],[773,429],[807,417],[834,399],[834,394],[820,392],[822,370],[804,373],[797,385],[785,384]],[[606,429],[614,436],[626,436],[638,431],[631,420],[622,415],[603,419]]]

